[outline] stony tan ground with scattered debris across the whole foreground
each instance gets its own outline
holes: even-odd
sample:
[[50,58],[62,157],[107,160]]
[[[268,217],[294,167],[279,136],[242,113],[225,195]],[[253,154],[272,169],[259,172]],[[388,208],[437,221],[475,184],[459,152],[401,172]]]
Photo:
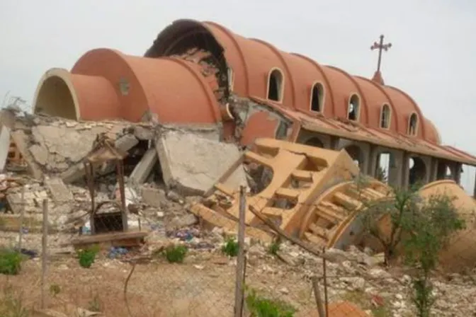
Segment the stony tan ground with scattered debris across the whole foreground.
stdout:
[[[2,244],[13,243],[17,236],[2,233]],[[51,250],[68,238],[64,234],[51,235]],[[40,241],[40,234],[26,234],[23,246],[39,250]],[[322,260],[288,243],[281,245],[278,255],[271,255],[266,246],[249,239],[246,242],[247,287],[291,304],[298,310],[297,316],[314,316],[310,280],[313,276],[322,277]],[[188,246],[183,264],[169,264],[158,255],[156,250],[169,243]],[[102,311],[105,316],[128,316],[123,295],[132,267],[128,259],[145,257],[150,260],[137,265],[128,285],[132,316],[232,316],[236,260],[222,253],[223,243],[224,233],[220,229],[205,232],[186,226],[155,230],[139,250],[129,250],[125,255],[116,255],[117,258],[106,250],[89,269],[81,268],[73,254],[64,254],[64,248],[63,253],[53,251],[47,268],[47,305],[55,311],[79,306]],[[329,302],[351,301],[369,316],[415,316],[410,298],[411,278],[402,268],[386,270],[379,264],[380,257],[356,249],[329,250],[327,254],[331,257],[327,261]],[[1,284],[13,287],[17,299],[23,293],[24,306],[38,307],[40,275],[40,260],[33,258],[23,264],[20,275],[1,277]],[[475,280],[472,273],[435,277],[434,316],[474,316]],[[52,286],[58,287],[57,294],[52,292]]]

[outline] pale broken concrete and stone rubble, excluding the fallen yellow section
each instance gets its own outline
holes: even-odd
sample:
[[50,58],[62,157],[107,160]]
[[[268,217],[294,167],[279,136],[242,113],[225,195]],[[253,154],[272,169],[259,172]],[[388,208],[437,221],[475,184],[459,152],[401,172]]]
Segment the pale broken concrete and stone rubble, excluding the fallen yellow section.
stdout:
[[[0,220],[18,217],[23,212],[25,219],[35,220],[23,221],[12,230],[26,229],[25,248],[40,248],[40,235],[35,236],[29,230],[41,225],[43,200],[47,200],[50,233],[54,235],[52,248],[64,245],[73,237],[94,236],[90,228],[91,196],[84,159],[91,154],[98,135],[113,140],[115,148],[125,153],[124,199],[128,208],[128,230],[147,232],[145,246],[135,250],[144,257],[153,259],[158,250],[169,244],[183,244],[191,250],[187,261],[192,261],[198,270],[209,265],[236,265],[235,260],[222,254],[225,239],[235,234],[231,227],[215,225],[211,230],[204,230],[202,221],[205,217],[200,215],[203,210],[194,213],[189,210],[197,205],[196,202],[206,202],[203,196],[217,183],[231,190],[232,194],[236,194],[240,185],[246,185],[249,192],[256,194],[273,183],[271,171],[256,163],[259,162],[256,155],[250,154],[255,163],[246,165],[242,161],[241,149],[220,142],[220,132],[215,127],[74,122],[33,116],[17,117],[10,126],[12,142],[21,151],[30,173],[8,172],[7,160],[4,174],[0,175],[0,202],[4,210]],[[265,145],[271,149],[273,144]],[[280,155],[288,155],[282,162],[305,159],[300,149],[287,151],[288,154],[280,151]],[[332,155],[336,158],[332,159],[329,154],[328,161],[348,161],[346,157]],[[266,161],[266,158],[262,160]],[[332,171],[332,165],[328,165]],[[114,168],[111,163],[96,166],[92,184],[96,204],[120,202]],[[289,174],[298,180],[308,178],[286,168],[273,166],[273,171],[276,175]],[[319,169],[322,183],[328,183],[328,179],[323,178],[326,171]],[[227,178],[222,178],[227,173]],[[329,179],[337,172],[332,173],[329,172]],[[285,179],[284,176],[281,178]],[[290,197],[295,190],[280,186],[277,190],[283,197]],[[307,186],[311,186],[309,182]],[[341,192],[335,195],[344,197]],[[233,195],[225,196],[232,200]],[[216,215],[225,210],[220,206]],[[11,242],[11,236],[5,232],[6,226],[0,226],[0,241],[7,237],[9,242],[4,240],[7,244]],[[247,235],[245,242],[247,283],[249,281],[265,292],[277,293],[276,296],[293,302],[302,288],[310,289],[310,277],[323,274],[322,258],[299,246],[282,243],[276,255],[271,255],[269,245],[251,238],[251,235]],[[131,257],[132,253],[128,248],[111,248],[109,259],[103,261]],[[386,270],[381,266],[380,255],[353,246],[345,251],[331,248],[327,256],[330,259],[327,263],[329,301],[352,301],[369,316],[380,316],[372,315],[378,309],[390,313],[382,316],[412,316],[411,279],[404,270]],[[434,312],[437,316],[469,316],[476,311],[471,300],[476,294],[475,278],[476,272],[469,272],[467,276],[452,275],[450,280],[436,277]]]

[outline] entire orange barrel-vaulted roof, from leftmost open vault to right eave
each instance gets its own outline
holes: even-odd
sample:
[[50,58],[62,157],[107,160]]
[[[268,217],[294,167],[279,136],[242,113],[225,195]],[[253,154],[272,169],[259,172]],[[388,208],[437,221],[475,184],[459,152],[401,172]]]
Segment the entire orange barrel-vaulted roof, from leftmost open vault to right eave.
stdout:
[[[398,88],[282,52],[212,22],[171,23],[145,57],[97,49],[70,72],[50,69],[38,85],[34,111],[73,120],[216,125],[229,139],[239,119],[231,109],[233,95],[260,100],[291,118],[293,131],[286,134],[291,141],[306,129],[476,165],[474,156],[441,146],[436,127]],[[267,117],[239,122],[252,132],[239,142],[276,137],[265,131]]]

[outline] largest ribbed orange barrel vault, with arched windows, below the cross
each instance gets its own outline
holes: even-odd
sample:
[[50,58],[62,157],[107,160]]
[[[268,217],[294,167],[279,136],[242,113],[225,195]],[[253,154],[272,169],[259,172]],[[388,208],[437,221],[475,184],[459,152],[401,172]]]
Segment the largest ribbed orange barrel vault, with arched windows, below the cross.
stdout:
[[[203,40],[197,40],[197,39]],[[416,114],[419,128],[416,137],[438,142],[438,132],[426,118],[414,100],[391,86],[382,86],[361,76],[351,76],[336,67],[318,64],[301,54],[278,50],[263,40],[244,38],[213,22],[193,20],[175,21],[154,41],[146,57],[165,57],[192,47],[215,52],[215,59],[232,69],[233,91],[240,96],[266,98],[270,87],[268,77],[273,70],[282,76],[280,103],[286,108],[325,117],[348,117],[352,96],[358,100],[358,122],[368,127],[380,127],[383,105],[390,105],[392,115],[387,129],[408,133],[410,117]],[[224,66],[222,66],[224,67]],[[312,111],[312,88],[315,83],[322,87],[322,107]]]

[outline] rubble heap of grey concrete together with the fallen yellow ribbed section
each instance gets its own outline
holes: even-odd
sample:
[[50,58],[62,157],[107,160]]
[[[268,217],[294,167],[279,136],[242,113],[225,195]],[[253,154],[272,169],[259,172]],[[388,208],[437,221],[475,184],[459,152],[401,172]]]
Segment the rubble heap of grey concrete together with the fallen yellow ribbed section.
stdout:
[[[74,122],[26,115],[16,117],[8,129],[10,142],[0,151],[15,155],[0,175],[0,238],[6,231],[24,229],[25,248],[38,249],[34,233],[41,231],[42,203],[47,200],[52,248],[100,243],[108,246],[106,261],[115,261],[137,254],[154,259],[170,244],[180,244],[191,250],[197,270],[232,266],[234,260],[222,254],[222,246],[236,231],[239,187],[245,185],[249,205],[262,207],[262,214],[285,234],[329,248],[329,301],[360,301],[367,313],[380,306],[392,316],[412,311],[409,275],[388,272],[380,266],[380,254],[353,247],[353,218],[343,210],[361,206],[352,187],[358,168],[345,151],[259,139],[254,151],[243,154],[237,145],[222,142],[217,127],[152,122]],[[106,149],[101,146],[117,154],[101,155],[116,161],[120,156],[122,163],[92,160]],[[88,159],[94,166],[91,178]],[[26,164],[28,172],[11,171],[15,164]],[[118,175],[124,175],[123,192]],[[370,183],[363,195],[381,197],[385,188]],[[127,226],[96,234],[99,206],[104,214],[124,212]],[[300,281],[322,275],[322,258],[299,246],[282,243],[271,255],[273,234],[249,210],[246,225],[246,274],[258,287],[290,296],[300,292]],[[272,278],[261,278],[266,275]],[[274,279],[286,283],[273,284]],[[446,299],[436,301],[438,316],[451,316],[447,311],[463,316],[476,309],[462,304],[476,292],[464,279],[455,275],[450,282],[436,280],[435,292]]]

